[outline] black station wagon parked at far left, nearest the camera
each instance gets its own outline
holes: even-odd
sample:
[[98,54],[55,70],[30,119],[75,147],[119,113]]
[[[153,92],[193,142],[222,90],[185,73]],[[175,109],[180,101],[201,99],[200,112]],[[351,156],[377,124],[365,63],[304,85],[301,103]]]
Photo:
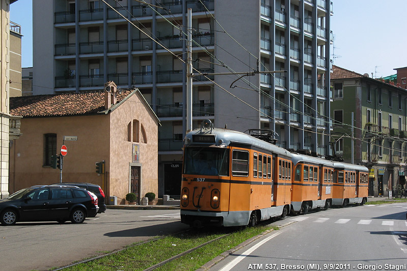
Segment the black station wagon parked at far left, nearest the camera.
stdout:
[[0,200],[0,222],[57,221],[82,223],[95,216],[97,202],[92,195],[74,186],[33,186]]

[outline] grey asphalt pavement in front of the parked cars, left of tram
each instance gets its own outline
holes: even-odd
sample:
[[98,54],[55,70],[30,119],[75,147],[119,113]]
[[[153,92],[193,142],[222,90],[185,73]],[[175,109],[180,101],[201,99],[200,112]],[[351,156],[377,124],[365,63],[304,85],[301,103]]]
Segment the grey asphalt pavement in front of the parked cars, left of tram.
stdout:
[[83,224],[0,226],[0,270],[48,270],[188,228],[180,210],[121,209],[107,209]]

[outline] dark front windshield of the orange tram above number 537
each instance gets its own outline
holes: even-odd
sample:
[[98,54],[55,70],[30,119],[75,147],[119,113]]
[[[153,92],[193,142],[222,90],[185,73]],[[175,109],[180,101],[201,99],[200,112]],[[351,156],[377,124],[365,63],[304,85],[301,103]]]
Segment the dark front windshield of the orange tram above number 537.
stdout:
[[229,149],[199,148],[185,149],[184,173],[195,175],[228,176]]

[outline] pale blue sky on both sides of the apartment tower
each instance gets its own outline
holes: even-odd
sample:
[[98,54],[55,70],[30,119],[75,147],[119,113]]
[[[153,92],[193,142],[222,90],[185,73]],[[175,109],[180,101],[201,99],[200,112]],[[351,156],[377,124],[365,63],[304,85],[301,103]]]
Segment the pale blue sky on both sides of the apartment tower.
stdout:
[[[335,65],[374,77],[395,74],[394,68],[407,66],[406,0],[332,2]],[[32,0],[10,6],[10,18],[21,25],[23,35],[22,67],[33,65],[32,11]]]

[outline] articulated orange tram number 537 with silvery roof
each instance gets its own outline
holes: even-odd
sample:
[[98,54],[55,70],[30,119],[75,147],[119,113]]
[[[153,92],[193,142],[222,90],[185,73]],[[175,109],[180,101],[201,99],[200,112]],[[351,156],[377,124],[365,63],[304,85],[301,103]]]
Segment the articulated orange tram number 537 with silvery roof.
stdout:
[[332,205],[367,201],[368,169],[289,152],[271,135],[214,128],[184,140],[181,222],[254,226]]

